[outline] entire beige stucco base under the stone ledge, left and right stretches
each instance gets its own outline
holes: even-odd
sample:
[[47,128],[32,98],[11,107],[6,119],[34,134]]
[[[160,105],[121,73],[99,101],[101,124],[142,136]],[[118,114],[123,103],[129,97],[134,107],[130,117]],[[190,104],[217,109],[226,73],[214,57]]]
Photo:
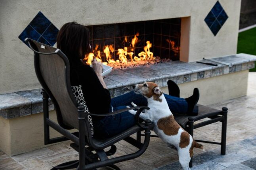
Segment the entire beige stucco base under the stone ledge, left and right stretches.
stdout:
[[[247,91],[248,70],[211,77],[180,84],[181,97],[186,98],[199,88],[199,104],[214,104],[231,98],[245,96]],[[162,88],[168,94],[168,88]],[[56,121],[55,111],[50,111],[50,118]],[[50,130],[51,137],[60,136]],[[43,114],[4,119],[0,117],[0,150],[8,155],[17,155],[45,147]]]

